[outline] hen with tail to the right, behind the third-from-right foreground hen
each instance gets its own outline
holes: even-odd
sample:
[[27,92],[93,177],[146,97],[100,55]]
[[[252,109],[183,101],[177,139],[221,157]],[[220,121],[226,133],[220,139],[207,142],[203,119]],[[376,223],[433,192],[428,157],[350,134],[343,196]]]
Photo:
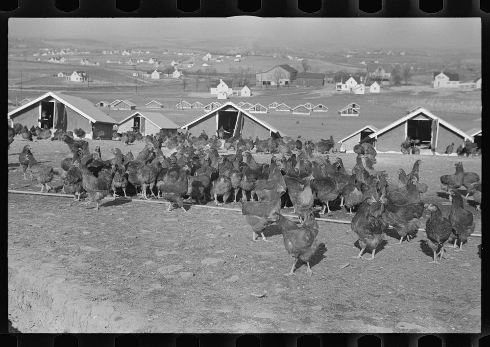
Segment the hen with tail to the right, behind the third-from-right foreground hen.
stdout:
[[385,202],[385,216],[387,221],[400,235],[400,243],[405,236],[407,240],[414,238],[419,227],[420,217],[424,211],[424,203],[419,201],[413,204],[396,205],[388,197]]

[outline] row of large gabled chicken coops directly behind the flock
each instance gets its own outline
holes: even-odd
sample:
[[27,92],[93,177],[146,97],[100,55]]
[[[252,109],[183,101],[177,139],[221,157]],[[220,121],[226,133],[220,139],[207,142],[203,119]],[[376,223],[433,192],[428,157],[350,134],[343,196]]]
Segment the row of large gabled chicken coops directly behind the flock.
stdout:
[[[118,131],[137,130],[142,134],[151,134],[160,130],[189,130],[198,135],[202,130],[211,136],[223,127],[229,131],[230,136],[243,136],[261,139],[268,137],[287,136],[269,123],[233,102],[215,105],[215,108],[184,125],[177,125],[172,120],[158,112],[135,110],[122,121],[117,122],[90,101],[71,95],[56,92],[47,92],[28,103],[8,112],[7,119],[10,126],[14,123],[23,125],[41,126],[41,114],[46,111],[50,118],[51,130],[82,129],[86,138],[91,139],[93,134],[102,130],[105,138],[111,138],[115,126]],[[242,105],[243,106],[243,105]],[[358,109],[357,104],[348,105],[347,109]],[[481,147],[481,128],[463,131],[434,115],[424,107],[412,109],[400,119],[378,129],[366,125],[339,141],[341,151],[351,151],[358,143],[368,142],[379,152],[399,152],[400,143],[407,137],[417,138],[420,145],[442,153],[447,145],[474,141]]]

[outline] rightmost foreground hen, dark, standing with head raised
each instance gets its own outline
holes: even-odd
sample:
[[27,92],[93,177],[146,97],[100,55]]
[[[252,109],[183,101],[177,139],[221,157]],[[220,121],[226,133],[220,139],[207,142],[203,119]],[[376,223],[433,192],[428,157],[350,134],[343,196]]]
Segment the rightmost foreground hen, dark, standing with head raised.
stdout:
[[[457,190],[450,189],[447,191],[447,194],[451,197],[451,211],[449,212],[448,219],[453,229],[453,236],[455,237],[453,247],[457,248],[458,251],[462,251],[463,243],[475,231],[473,214],[465,210],[463,197]],[[458,240],[460,241],[459,248]]]

